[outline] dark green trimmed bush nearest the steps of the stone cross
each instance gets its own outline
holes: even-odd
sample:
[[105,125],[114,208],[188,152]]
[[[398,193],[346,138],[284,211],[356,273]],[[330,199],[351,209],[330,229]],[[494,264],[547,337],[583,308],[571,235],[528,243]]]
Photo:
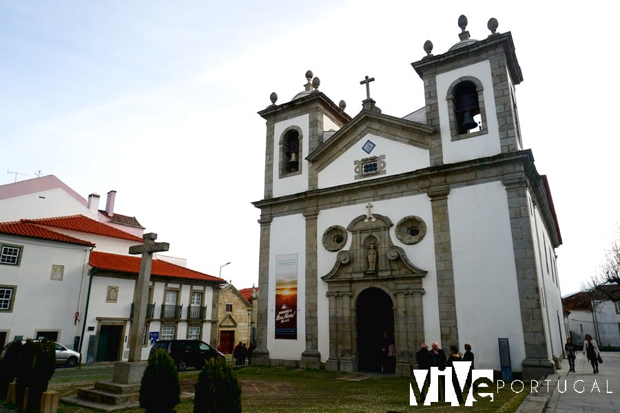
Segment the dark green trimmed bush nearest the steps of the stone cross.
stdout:
[[140,407],[149,413],[169,412],[180,396],[178,372],[174,360],[163,348],[149,357],[140,385]]

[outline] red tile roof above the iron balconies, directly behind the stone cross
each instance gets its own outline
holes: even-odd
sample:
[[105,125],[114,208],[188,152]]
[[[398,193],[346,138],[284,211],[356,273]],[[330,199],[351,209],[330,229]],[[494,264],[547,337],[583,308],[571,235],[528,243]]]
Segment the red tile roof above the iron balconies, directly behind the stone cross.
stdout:
[[[138,274],[140,271],[140,257],[132,257],[130,255],[119,255],[112,253],[100,253],[92,251],[90,253],[90,262],[92,268],[100,270],[117,271],[119,273]],[[200,281],[225,282],[223,279],[213,277],[212,275],[198,273],[198,271],[190,270],[182,266],[171,264],[162,260],[153,260],[151,267],[151,275],[159,275],[161,277],[175,277],[185,279],[198,279]]]

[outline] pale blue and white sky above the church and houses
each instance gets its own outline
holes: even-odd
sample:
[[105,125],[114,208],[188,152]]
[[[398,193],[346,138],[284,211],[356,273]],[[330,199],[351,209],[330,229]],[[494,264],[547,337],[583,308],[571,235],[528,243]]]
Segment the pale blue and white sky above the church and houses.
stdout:
[[[196,271],[258,285],[265,121],[312,70],[346,112],[424,106],[411,63],[486,23],[511,32],[524,147],[548,176],[581,290],[620,228],[617,30],[607,2],[0,0],[0,184],[54,175],[136,216]],[[4,170],[7,171],[6,175]],[[230,264],[223,266],[227,262]]]

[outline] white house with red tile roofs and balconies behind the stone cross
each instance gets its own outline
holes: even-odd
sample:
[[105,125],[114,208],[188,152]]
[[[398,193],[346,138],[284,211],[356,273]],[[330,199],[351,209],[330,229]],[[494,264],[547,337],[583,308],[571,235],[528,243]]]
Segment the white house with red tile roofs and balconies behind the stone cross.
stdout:
[[[98,197],[85,200],[54,176],[0,186],[0,218],[12,220],[0,224],[3,260],[14,261],[0,265],[0,320],[8,320],[0,324],[1,341],[46,336],[81,351],[83,362],[127,359],[140,262],[129,247],[143,243],[143,227],[113,212],[115,194],[110,191],[106,209],[99,210]],[[216,346],[224,281],[185,268],[185,260],[155,258],[143,358],[149,338],[201,339]],[[50,284],[61,267],[64,281]],[[45,305],[34,313],[28,302]]]

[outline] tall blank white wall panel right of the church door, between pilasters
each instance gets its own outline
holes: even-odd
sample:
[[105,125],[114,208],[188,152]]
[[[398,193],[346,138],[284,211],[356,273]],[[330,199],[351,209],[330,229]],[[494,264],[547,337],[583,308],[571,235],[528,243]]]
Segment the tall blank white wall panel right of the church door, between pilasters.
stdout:
[[521,371],[525,346],[506,189],[502,182],[453,189],[448,214],[459,341],[471,343],[476,368],[499,370],[497,339],[508,338],[512,368]]

